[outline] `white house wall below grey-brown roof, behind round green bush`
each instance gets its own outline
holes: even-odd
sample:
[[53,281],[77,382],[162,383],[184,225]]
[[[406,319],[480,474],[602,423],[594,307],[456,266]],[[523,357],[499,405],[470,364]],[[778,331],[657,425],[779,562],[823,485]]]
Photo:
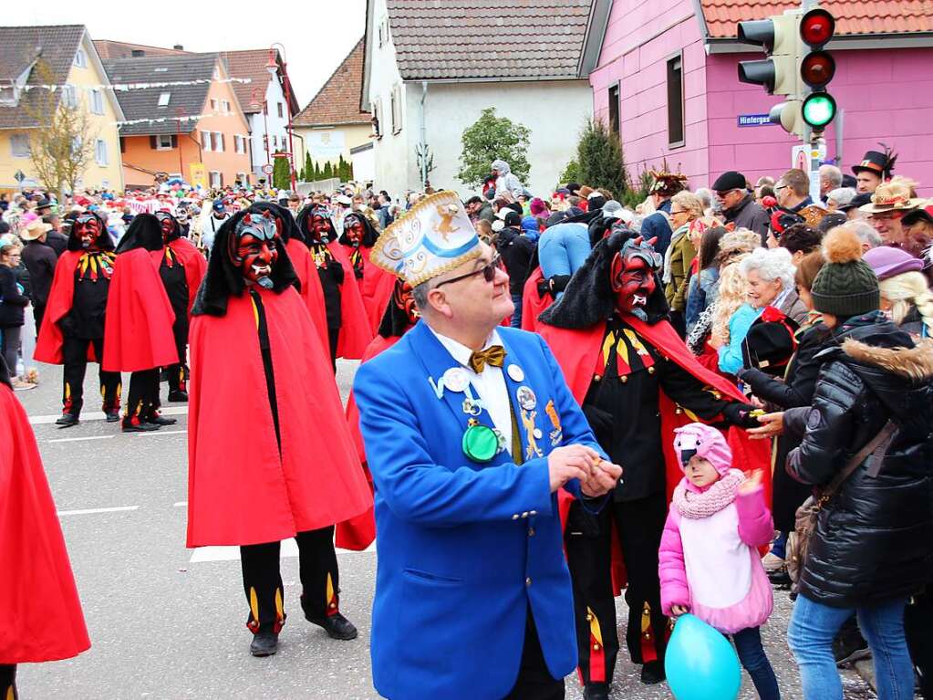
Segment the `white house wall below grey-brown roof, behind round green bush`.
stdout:
[[[411,94],[417,95],[417,99],[409,98],[409,114],[415,122],[411,129],[413,161],[414,144],[419,141],[421,85],[411,83],[409,88]],[[531,175],[523,184],[537,196],[552,192],[567,162],[576,155],[584,120],[592,116],[589,83],[586,80],[429,83],[425,120],[427,144],[434,153],[436,166],[429,179],[435,189],[454,189],[463,197],[475,193],[456,179],[456,173],[460,169],[463,132],[480,119],[486,107],[495,107],[497,117],[508,117],[531,130],[527,156]],[[415,170],[412,187],[418,183]]]

